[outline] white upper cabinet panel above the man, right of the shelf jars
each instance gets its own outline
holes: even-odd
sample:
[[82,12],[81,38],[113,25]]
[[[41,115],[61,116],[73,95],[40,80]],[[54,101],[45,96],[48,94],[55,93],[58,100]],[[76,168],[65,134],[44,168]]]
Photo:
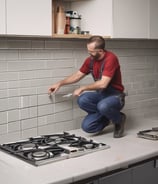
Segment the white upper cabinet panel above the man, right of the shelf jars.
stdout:
[[71,3],[71,9],[81,14],[81,30],[90,34],[111,36],[112,0],[88,0]]

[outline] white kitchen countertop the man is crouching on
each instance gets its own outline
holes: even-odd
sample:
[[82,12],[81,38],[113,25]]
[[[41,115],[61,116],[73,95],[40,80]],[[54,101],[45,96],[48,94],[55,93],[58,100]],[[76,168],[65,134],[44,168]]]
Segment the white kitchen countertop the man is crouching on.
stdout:
[[158,127],[158,119],[138,119],[126,123],[125,136],[113,138],[113,127],[92,136],[82,130],[70,131],[110,145],[109,149],[84,156],[32,166],[0,151],[0,178],[4,184],[69,184],[97,174],[106,173],[158,155],[158,141],[137,137],[140,130]]

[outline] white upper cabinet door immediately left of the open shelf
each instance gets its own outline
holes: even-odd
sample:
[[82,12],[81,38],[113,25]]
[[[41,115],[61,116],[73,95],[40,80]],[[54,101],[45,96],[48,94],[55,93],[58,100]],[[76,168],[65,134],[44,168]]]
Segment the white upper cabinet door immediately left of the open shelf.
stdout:
[[51,0],[7,0],[7,34],[51,35]]

